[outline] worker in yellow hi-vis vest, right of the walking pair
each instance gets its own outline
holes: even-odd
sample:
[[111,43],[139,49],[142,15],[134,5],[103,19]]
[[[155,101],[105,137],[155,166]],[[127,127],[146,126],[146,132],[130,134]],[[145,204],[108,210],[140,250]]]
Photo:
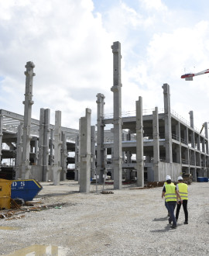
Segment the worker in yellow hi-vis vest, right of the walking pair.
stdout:
[[183,205],[183,211],[185,216],[185,221],[183,224],[188,224],[188,210],[187,210],[187,202],[188,202],[188,186],[187,184],[183,183],[183,178],[180,176],[178,177],[178,184],[176,185],[176,190],[180,193],[181,199],[183,200],[182,203],[178,200],[177,208],[176,208],[176,221],[179,218],[180,213],[180,206]]

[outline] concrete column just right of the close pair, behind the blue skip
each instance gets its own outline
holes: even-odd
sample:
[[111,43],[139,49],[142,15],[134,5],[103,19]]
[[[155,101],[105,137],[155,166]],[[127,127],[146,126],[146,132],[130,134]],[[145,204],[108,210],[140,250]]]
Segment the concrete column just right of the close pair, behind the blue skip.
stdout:
[[61,111],[57,110],[55,112],[55,129],[54,129],[54,163],[53,163],[53,185],[60,185],[60,171],[61,168],[61,145],[63,144],[61,140]]

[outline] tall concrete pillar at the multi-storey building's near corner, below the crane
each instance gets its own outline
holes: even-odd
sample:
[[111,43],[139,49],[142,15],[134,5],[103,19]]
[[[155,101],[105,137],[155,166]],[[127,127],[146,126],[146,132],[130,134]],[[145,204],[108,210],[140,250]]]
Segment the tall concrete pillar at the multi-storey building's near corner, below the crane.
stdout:
[[164,117],[165,117],[165,144],[166,144],[166,162],[172,163],[172,134],[171,134],[171,116],[170,116],[170,85],[163,84],[164,95]]

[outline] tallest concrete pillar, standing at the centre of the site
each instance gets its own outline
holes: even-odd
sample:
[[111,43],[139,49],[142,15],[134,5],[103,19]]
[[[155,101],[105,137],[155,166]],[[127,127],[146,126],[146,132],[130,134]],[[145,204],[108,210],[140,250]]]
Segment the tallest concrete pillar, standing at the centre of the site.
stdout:
[[114,189],[122,189],[122,82],[121,82],[121,43],[114,42],[113,53],[113,124],[114,124]]

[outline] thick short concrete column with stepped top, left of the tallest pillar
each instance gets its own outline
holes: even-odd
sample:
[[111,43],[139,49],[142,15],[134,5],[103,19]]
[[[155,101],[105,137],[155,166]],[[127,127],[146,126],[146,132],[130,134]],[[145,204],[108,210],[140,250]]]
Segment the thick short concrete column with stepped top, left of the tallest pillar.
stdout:
[[80,192],[90,192],[91,185],[91,109],[81,117]]

